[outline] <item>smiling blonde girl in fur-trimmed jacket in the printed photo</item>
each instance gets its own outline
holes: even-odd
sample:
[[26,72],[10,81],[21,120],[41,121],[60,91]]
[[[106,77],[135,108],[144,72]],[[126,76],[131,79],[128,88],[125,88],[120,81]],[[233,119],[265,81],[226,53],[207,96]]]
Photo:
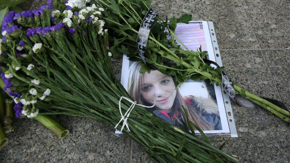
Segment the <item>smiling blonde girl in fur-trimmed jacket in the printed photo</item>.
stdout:
[[[188,112],[189,121],[196,124],[202,130],[222,130],[220,115],[216,99],[204,96],[182,96],[179,88],[175,88],[175,78],[164,75],[158,70],[150,73],[139,72],[139,62],[132,62],[129,67],[129,79],[127,91],[138,104],[152,106],[144,108],[159,116],[163,120],[184,129],[187,124],[182,105]],[[194,88],[188,88],[193,89]]]

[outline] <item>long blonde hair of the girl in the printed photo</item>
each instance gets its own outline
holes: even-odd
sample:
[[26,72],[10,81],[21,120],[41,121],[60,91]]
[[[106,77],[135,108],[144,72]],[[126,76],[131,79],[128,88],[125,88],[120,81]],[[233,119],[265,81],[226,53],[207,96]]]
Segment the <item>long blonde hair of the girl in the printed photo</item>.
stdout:
[[[139,62],[133,62],[133,64],[129,68],[128,94],[138,104],[150,106],[151,104],[146,102],[141,95],[141,91],[143,88],[143,86],[141,86],[141,83],[143,83],[143,74],[139,72],[141,67],[142,66]],[[174,77],[172,77],[172,78],[175,82],[175,78]],[[193,97],[194,96],[187,96],[187,98],[193,98]],[[209,99],[209,98],[203,98],[202,101],[204,101],[204,99]],[[205,100],[205,101],[207,101],[207,100]],[[213,101],[213,100],[211,100],[211,101]],[[209,102],[209,100],[208,100],[208,102]],[[217,104],[215,102],[210,102],[210,105],[216,105],[216,106],[205,107],[205,109],[208,109],[208,113],[218,114]],[[174,103],[173,103],[172,107],[175,108],[175,111],[179,111],[179,113],[181,113],[182,121],[186,122],[186,116],[185,116],[184,110],[182,109],[182,106],[184,106],[185,109],[187,110],[189,121],[196,124],[202,130],[214,130],[214,124],[211,124],[206,119],[200,117],[200,113],[198,113],[196,108],[194,108],[192,105],[190,105],[188,102],[186,102],[185,98],[182,97],[182,95],[179,92],[179,87],[178,87],[178,88],[176,88],[176,97],[174,99]],[[204,108],[202,108],[202,106],[198,106],[198,107],[200,107],[201,109],[204,109]],[[212,108],[214,108],[214,109],[212,109]],[[153,111],[154,111],[154,108],[153,108]],[[179,118],[174,119],[174,122],[173,122],[174,124],[175,124],[175,121],[182,123],[179,120]]]

